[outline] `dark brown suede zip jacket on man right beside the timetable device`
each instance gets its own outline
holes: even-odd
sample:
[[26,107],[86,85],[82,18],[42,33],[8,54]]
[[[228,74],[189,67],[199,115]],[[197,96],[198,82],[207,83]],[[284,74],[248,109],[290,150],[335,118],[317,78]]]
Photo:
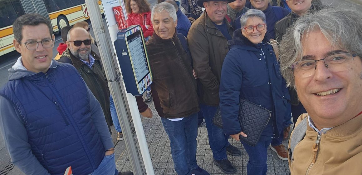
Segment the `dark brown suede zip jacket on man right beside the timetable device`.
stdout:
[[[198,112],[197,83],[192,75],[191,58],[176,33],[171,39],[162,39],[153,33],[146,49],[153,76],[151,91],[159,115],[181,118]],[[139,104],[139,109],[140,106],[144,103]]]

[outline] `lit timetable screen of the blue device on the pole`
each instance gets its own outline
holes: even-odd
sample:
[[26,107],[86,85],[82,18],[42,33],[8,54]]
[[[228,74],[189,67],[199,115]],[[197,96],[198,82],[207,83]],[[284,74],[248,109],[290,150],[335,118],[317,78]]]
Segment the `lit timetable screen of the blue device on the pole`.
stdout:
[[140,83],[149,72],[140,30],[127,36],[127,42],[135,76],[137,82]]

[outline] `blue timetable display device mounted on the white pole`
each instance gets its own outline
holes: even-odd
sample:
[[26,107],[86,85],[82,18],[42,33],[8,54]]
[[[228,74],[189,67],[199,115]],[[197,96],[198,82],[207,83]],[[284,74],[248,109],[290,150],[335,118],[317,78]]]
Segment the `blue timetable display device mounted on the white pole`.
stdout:
[[127,93],[142,95],[152,83],[142,28],[135,25],[118,32],[114,47]]

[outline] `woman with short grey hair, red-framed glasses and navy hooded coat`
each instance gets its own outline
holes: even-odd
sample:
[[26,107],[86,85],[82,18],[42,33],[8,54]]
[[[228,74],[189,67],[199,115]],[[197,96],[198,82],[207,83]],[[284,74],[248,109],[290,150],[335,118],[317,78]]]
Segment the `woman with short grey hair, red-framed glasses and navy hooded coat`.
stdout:
[[254,139],[256,144],[251,146],[241,141],[249,155],[248,175],[265,175],[268,171],[267,150],[272,138],[283,137],[279,133],[284,129],[284,116],[289,105],[287,99],[290,97],[273,47],[268,43],[265,14],[250,9],[240,22],[241,29],[235,30],[233,39],[228,41],[230,50],[221,71],[219,108],[224,133],[237,141],[249,137],[243,130],[246,126],[240,126],[238,121],[240,99],[268,109],[269,120],[260,121],[256,117],[248,124],[262,128],[256,137],[258,139]]

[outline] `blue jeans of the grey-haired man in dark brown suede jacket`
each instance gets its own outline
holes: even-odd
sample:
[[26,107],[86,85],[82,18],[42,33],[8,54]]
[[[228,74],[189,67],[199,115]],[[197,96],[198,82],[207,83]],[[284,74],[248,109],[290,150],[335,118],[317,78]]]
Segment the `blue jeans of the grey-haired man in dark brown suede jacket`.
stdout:
[[162,125],[170,139],[171,155],[178,175],[191,175],[196,169],[197,113],[180,121],[161,117]]

